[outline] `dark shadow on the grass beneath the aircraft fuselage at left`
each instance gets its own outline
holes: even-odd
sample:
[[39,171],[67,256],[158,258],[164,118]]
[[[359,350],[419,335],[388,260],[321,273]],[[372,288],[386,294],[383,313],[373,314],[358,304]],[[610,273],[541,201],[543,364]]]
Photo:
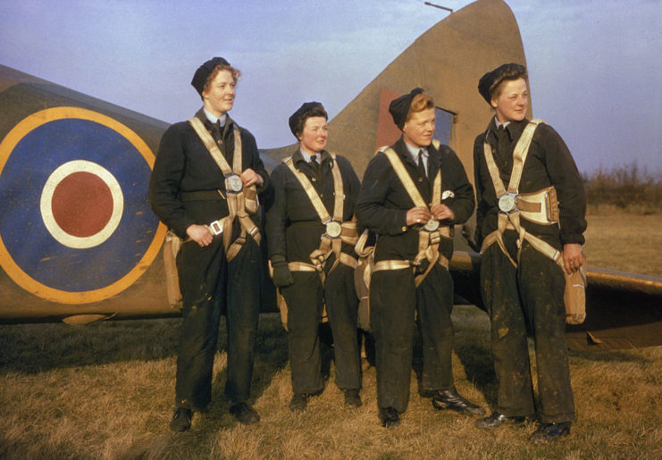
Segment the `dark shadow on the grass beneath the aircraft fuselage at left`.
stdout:
[[[96,322],[87,326],[0,325],[0,375],[170,358],[177,355],[180,330],[181,318]],[[254,380],[263,381],[263,374],[272,375],[288,359],[286,332],[278,314],[260,315],[256,340]],[[223,319],[218,344],[221,351],[226,350]],[[271,378],[260,385],[265,388],[269,381]]]

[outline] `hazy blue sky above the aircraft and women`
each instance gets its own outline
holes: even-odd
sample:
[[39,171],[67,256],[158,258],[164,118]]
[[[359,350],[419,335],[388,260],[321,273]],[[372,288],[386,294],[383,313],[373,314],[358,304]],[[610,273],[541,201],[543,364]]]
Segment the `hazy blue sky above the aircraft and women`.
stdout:
[[[533,114],[580,170],[662,172],[662,0],[507,4]],[[292,143],[287,119],[302,102],[333,117],[447,15],[421,0],[0,0],[0,63],[174,122],[200,105],[197,66],[222,55],[244,73],[231,114],[268,148]]]

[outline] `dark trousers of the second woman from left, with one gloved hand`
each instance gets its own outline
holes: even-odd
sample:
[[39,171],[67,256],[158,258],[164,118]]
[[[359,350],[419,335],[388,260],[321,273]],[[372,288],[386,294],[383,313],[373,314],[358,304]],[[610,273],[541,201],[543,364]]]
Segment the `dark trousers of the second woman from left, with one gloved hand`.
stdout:
[[[333,258],[327,262],[331,269]],[[359,389],[361,364],[356,322],[358,297],[354,269],[339,263],[322,285],[316,272],[292,272],[294,284],[281,289],[288,305],[288,352],[294,393],[322,391],[322,355],[319,322],[323,302],[329,316],[335,356],[336,384],[340,389]]]

